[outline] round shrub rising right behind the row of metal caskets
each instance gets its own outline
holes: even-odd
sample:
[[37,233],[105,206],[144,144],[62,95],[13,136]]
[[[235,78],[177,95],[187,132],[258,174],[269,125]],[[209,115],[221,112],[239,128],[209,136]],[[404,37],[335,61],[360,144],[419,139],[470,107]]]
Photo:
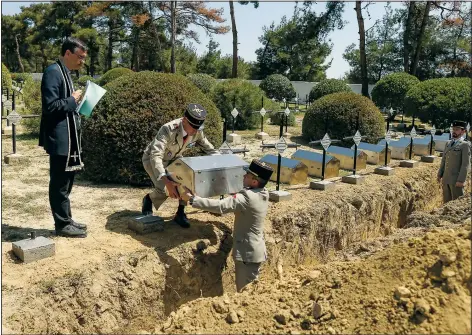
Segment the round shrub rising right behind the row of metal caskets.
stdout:
[[[359,112],[359,132],[367,136],[363,141],[377,142],[385,132],[385,122],[374,103],[354,92],[340,92],[316,100],[305,113],[302,123],[303,137],[308,140],[322,139],[326,133],[332,139],[342,139],[356,133],[356,119]],[[353,141],[345,142],[352,146]]]

